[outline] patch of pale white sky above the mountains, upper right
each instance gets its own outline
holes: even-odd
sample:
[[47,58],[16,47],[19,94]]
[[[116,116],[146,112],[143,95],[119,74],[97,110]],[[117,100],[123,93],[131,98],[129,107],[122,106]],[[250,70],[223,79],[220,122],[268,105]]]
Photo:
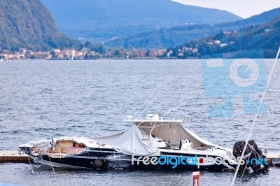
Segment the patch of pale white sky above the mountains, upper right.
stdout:
[[228,10],[247,18],[280,7],[280,0],[173,0],[179,3]]

